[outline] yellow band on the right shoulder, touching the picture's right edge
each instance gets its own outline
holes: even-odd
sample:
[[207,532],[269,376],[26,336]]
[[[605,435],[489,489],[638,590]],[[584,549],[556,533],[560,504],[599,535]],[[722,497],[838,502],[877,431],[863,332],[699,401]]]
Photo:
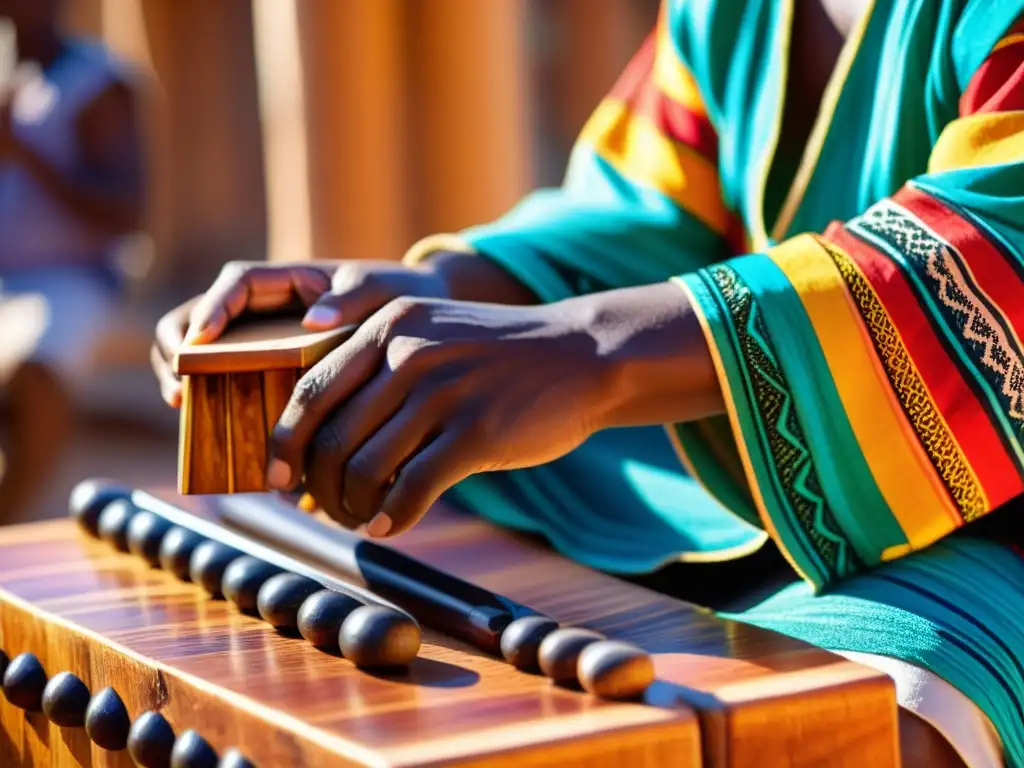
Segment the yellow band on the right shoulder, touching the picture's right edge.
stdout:
[[1024,158],[1024,112],[991,112],[958,118],[932,148],[928,172],[1016,163]]

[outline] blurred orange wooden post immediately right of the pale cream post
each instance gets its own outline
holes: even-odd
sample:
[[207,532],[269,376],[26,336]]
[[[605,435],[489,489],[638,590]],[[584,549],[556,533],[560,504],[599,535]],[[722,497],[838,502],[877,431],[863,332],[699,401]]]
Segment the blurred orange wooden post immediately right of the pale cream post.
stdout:
[[399,258],[410,244],[403,5],[297,3],[317,258]]

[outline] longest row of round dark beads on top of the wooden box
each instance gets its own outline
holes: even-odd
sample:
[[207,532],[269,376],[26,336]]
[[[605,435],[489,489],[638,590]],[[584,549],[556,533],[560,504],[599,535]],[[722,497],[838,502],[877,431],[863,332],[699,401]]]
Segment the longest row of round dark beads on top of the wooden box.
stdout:
[[297,630],[316,647],[340,652],[358,667],[403,667],[419,652],[420,627],[406,613],[326,589],[312,579],[174,525],[128,499],[115,499],[94,520],[82,516],[79,522],[119,551],[194,582],[280,631]]

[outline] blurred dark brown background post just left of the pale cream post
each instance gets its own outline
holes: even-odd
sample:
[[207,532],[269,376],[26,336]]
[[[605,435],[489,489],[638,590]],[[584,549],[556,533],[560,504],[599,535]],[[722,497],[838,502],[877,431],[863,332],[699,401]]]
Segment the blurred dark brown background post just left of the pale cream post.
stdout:
[[265,253],[251,0],[140,2],[166,103],[166,273],[195,293],[224,261]]

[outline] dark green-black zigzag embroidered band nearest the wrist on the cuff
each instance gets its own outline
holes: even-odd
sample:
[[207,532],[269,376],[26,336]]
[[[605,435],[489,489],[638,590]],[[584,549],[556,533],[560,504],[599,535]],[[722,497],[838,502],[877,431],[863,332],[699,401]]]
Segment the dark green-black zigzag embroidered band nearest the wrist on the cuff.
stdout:
[[737,351],[752,397],[752,416],[767,443],[774,479],[790,512],[828,571],[845,575],[857,568],[856,555],[840,532],[814,469],[785,376],[777,364],[768,328],[754,294],[731,267],[702,270],[706,283],[729,312]]

